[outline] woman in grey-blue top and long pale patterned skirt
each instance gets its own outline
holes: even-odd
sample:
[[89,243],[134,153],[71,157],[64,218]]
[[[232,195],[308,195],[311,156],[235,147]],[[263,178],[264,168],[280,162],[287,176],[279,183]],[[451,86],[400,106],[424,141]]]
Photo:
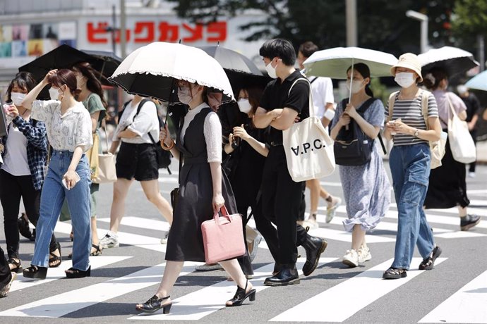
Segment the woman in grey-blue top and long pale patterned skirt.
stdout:
[[[337,106],[332,120],[331,137],[337,139],[353,120],[371,145],[371,160],[358,166],[339,166],[340,180],[348,219],[343,221],[345,230],[351,232],[351,249],[342,262],[354,268],[372,258],[366,244],[366,231],[375,228],[389,210],[390,183],[385,173],[382,158],[374,145],[384,125],[382,101],[373,98],[371,71],[363,63],[347,69],[347,87],[351,88],[351,100],[347,106],[344,99]],[[359,113],[360,111],[360,113]]]

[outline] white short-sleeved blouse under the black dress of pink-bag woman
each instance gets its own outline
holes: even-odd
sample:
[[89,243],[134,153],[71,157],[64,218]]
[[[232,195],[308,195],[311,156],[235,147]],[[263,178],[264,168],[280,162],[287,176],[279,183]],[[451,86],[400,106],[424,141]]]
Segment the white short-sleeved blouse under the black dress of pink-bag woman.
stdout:
[[[183,127],[181,128],[181,144],[184,144],[184,135],[188,129],[189,123],[201,111],[201,109],[209,107],[208,104],[200,104],[196,108],[190,109],[186,116],[184,116]],[[222,162],[222,124],[217,113],[211,112],[205,118],[203,124],[203,133],[205,135],[206,153],[208,154],[208,163]]]

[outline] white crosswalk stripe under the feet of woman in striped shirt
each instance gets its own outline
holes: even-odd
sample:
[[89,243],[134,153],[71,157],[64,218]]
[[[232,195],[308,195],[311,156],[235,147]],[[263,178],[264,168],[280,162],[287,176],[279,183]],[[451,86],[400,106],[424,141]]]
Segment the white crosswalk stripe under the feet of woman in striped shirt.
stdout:
[[[421,258],[413,258],[411,269],[418,268]],[[445,261],[438,258],[435,265]],[[271,321],[280,322],[343,322],[373,301],[414,279],[425,270],[410,270],[407,277],[397,280],[382,280],[383,271],[393,259],[365,270],[354,278],[345,280],[324,292],[303,301],[288,311],[280,313]],[[346,307],[344,305],[347,305]],[[315,311],[320,309],[320,311]]]

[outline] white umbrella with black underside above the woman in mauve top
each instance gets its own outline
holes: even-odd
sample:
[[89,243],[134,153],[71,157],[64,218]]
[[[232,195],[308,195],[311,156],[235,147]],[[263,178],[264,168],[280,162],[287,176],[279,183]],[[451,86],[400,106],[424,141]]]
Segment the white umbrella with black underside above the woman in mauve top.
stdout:
[[426,75],[431,68],[438,67],[445,69],[447,75],[451,77],[479,66],[473,54],[452,46],[430,49],[426,53],[419,54],[418,58],[423,75]]

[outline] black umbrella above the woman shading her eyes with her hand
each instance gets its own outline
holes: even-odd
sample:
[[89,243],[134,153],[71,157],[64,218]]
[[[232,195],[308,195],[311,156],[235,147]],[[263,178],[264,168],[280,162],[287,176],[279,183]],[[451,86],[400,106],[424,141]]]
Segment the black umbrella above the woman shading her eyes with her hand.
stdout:
[[34,75],[35,80],[40,81],[52,69],[71,68],[79,62],[88,62],[93,66],[102,64],[99,58],[63,44],[25,64],[25,66],[20,66],[18,70],[30,72]]

